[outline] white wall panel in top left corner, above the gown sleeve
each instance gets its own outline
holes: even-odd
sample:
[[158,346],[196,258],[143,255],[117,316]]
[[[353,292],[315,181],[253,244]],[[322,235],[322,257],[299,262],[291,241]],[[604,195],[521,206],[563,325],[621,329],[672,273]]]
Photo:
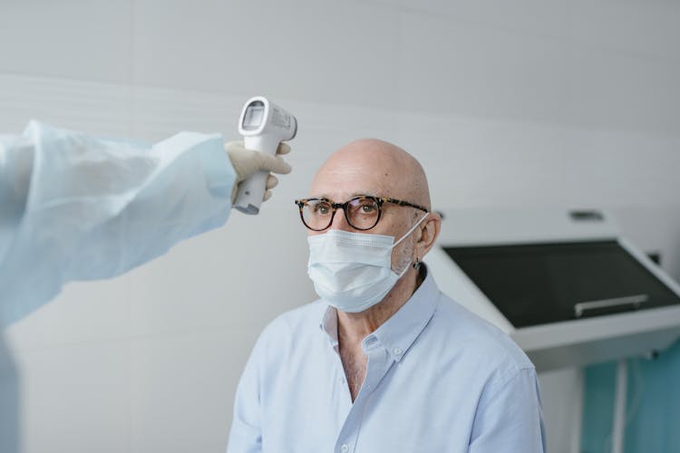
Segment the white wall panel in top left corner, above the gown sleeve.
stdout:
[[131,82],[131,0],[9,0],[0,72]]

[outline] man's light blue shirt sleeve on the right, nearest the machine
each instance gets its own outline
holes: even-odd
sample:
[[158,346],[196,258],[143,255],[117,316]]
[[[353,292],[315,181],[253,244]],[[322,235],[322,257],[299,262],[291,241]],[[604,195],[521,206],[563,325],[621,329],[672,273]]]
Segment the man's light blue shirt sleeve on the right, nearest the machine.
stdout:
[[468,451],[545,452],[545,428],[534,369],[510,371],[508,379],[482,394]]

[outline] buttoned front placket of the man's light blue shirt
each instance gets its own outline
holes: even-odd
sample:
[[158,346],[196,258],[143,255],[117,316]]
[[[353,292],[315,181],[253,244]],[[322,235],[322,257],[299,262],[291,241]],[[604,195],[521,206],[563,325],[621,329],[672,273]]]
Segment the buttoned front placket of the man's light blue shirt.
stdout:
[[[356,396],[356,400],[349,410],[343,428],[340,429],[340,434],[335,440],[336,453],[349,453],[356,451],[356,441],[361,429],[361,423],[364,416],[364,409],[373,391],[383,381],[385,374],[389,371],[393,364],[390,355],[384,350],[377,339],[373,335],[369,335],[364,339],[364,352],[368,356],[366,363],[366,377],[364,384]],[[341,364],[342,366],[342,364]],[[343,376],[345,374],[343,373]],[[345,388],[347,386],[345,385]],[[349,389],[347,388],[347,395],[349,396]]]

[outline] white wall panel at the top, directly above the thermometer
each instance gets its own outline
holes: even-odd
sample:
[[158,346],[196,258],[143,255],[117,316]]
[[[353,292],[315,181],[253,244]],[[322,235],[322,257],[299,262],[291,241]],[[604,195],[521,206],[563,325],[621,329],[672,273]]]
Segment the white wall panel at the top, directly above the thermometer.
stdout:
[[392,105],[399,70],[395,17],[371,3],[138,0],[134,80]]

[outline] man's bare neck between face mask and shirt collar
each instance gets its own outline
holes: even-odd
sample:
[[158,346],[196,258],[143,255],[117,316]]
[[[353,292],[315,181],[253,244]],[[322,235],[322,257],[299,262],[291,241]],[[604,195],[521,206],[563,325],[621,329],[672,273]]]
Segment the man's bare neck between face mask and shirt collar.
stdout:
[[422,283],[417,270],[409,269],[384,299],[361,313],[337,312],[337,335],[341,345],[359,347],[362,340],[397,313]]

